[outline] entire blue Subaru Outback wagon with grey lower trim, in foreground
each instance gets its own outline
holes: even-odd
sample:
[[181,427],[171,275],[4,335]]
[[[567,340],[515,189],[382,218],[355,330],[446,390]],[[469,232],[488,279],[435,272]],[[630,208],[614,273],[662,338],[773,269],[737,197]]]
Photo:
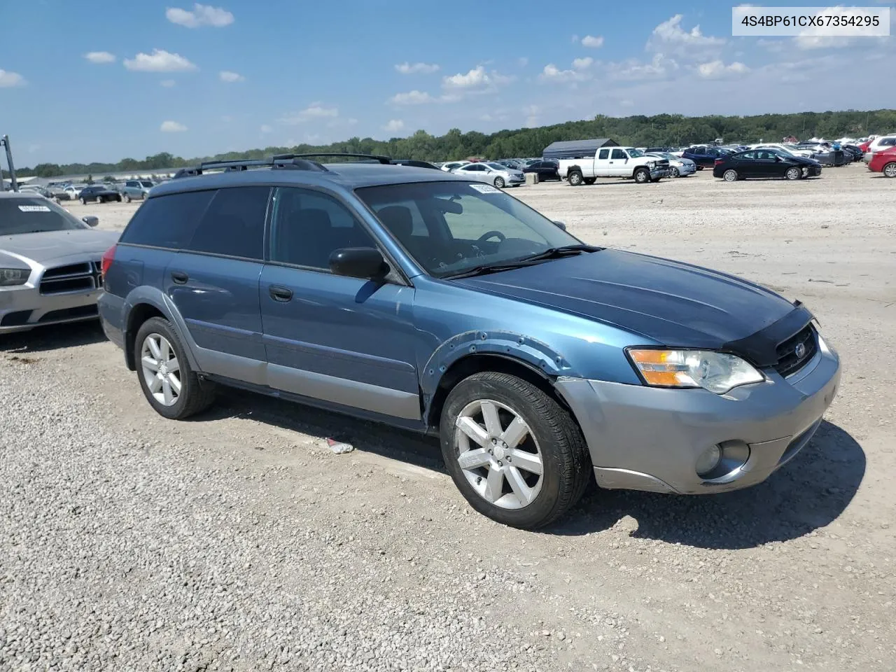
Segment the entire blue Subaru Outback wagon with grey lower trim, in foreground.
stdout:
[[105,255],[99,299],[166,418],[231,385],[432,433],[474,508],[533,529],[592,475],[758,483],[836,392],[839,358],[799,302],[586,245],[492,185],[384,157],[185,173]]

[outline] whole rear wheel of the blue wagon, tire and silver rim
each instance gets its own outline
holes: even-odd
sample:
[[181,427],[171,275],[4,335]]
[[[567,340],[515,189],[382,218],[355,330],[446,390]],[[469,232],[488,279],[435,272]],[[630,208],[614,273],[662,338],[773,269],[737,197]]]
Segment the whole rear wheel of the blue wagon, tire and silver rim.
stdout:
[[134,362],[146,401],[163,418],[182,420],[211,406],[214,387],[199,379],[168,320],[151,317],[134,339]]

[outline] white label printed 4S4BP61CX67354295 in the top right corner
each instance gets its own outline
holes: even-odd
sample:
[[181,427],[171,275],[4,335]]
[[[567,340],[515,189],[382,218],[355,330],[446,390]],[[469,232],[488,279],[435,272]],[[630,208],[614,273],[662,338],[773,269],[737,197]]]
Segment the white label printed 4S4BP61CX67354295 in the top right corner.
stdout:
[[890,7],[731,8],[732,35],[796,37],[799,47],[819,46],[823,37],[883,38],[890,35]]

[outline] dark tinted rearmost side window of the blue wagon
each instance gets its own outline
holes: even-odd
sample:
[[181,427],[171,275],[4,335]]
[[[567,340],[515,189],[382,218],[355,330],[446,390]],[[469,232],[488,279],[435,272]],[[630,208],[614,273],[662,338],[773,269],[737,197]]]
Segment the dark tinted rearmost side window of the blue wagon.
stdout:
[[134,212],[120,243],[183,249],[193,238],[214,191],[157,196]]

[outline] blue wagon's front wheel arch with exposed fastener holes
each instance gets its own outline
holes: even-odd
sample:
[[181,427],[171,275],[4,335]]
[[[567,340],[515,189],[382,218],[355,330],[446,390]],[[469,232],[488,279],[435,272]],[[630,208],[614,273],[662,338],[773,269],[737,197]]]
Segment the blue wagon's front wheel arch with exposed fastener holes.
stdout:
[[421,372],[427,424],[438,425],[445,397],[456,383],[495,370],[518,375],[563,403],[552,381],[560,375],[577,376],[561,353],[540,340],[513,332],[464,332],[435,349]]

